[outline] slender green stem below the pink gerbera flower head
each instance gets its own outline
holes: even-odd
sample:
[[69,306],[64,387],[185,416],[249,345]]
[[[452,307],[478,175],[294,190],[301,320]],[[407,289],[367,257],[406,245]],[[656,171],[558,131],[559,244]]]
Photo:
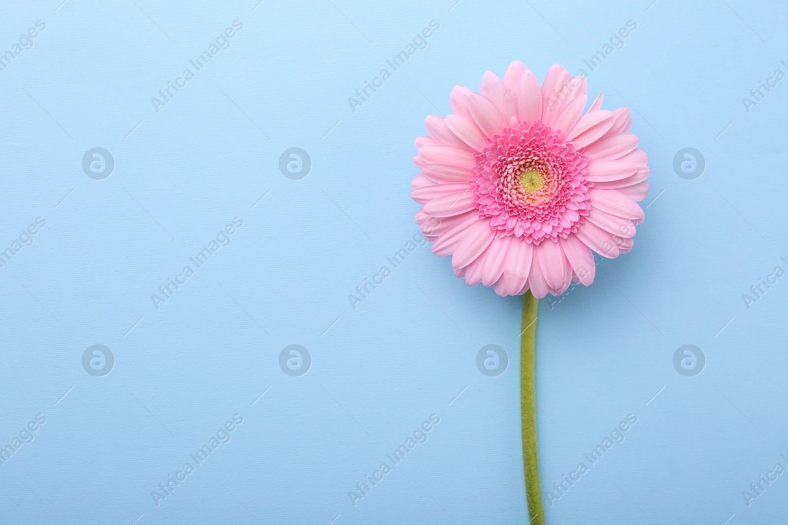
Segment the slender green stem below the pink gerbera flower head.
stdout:
[[545,525],[539,483],[537,450],[537,309],[539,299],[531,290],[522,295],[520,334],[520,417],[522,418],[522,470],[526,479],[529,525]]

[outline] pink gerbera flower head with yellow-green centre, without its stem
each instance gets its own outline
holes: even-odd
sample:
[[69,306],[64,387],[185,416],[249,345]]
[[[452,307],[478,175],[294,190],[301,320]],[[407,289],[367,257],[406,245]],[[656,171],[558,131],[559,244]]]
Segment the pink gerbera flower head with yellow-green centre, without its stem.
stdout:
[[537,298],[593,282],[593,253],[632,249],[649,191],[649,158],[628,133],[628,108],[588,112],[586,83],[553,65],[539,81],[520,61],[481,94],[457,86],[452,115],[428,116],[416,139],[416,213],[433,253],[455,275],[500,295]]

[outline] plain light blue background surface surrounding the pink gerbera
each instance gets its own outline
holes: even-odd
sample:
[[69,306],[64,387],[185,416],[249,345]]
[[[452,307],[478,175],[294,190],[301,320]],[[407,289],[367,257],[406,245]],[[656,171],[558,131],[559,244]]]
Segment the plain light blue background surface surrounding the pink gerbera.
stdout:
[[[788,277],[749,309],[742,294],[788,269],[788,80],[749,113],[742,98],[786,72],[785,6],[454,2],[4,6],[0,51],[36,20],[46,30],[0,72],[0,249],[36,217],[46,227],[0,269],[0,445],[36,414],[46,424],[0,466],[0,523],[526,523],[520,299],[466,287],[426,246],[356,309],[348,294],[416,233],[413,140],[456,83],[478,90],[513,60],[540,79],[555,62],[587,70],[628,20],[589,100],[634,109],[648,209],[592,287],[540,303],[543,489],[628,414],[637,424],[545,499],[547,521],[784,519],[788,474],[749,507],[742,491],[788,468]],[[233,20],[229,49],[155,112],[151,97]],[[352,112],[348,97],[430,20],[426,49]],[[81,168],[94,147],[115,161],[103,180]],[[279,170],[291,147],[310,155],[306,178]],[[700,178],[674,172],[685,147],[705,157]],[[236,216],[231,244],[155,309],[151,294]],[[109,375],[82,366],[94,344],[115,357]],[[311,354],[306,375],[279,366],[291,344]],[[508,353],[503,375],[476,368],[489,344]],[[685,344],[706,357],[695,377],[673,366]],[[155,505],[236,413],[231,441]],[[428,441],[352,505],[433,413]]]

